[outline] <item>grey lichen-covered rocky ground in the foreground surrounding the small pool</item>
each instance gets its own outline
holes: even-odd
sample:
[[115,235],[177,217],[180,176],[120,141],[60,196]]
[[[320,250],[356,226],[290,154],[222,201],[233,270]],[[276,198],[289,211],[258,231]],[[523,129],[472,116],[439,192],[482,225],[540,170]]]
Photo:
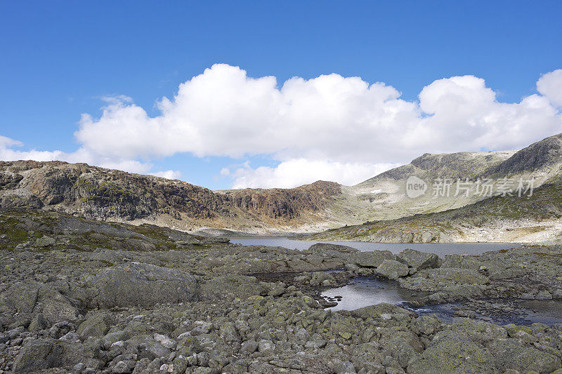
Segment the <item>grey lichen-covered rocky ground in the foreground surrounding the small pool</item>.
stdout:
[[2,212],[0,225],[0,373],[553,373],[562,366],[559,325],[444,323],[390,304],[332,312],[315,300],[360,275],[424,291],[420,303],[484,308],[498,296],[560,298],[555,247],[439,259],[334,245],[243,247],[39,211]]

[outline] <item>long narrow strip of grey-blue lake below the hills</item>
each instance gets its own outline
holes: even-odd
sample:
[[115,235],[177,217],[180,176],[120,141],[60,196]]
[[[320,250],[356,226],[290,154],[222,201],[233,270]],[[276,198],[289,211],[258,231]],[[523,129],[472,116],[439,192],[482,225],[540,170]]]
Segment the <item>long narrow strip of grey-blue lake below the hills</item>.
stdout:
[[405,248],[415,249],[420,252],[435,253],[439,256],[468,253],[479,255],[488,251],[499,251],[521,246],[518,243],[369,243],[365,241],[303,241],[289,239],[284,236],[251,236],[228,238],[231,243],[243,246],[274,246],[297,249],[303,251],[315,243],[333,243],[350,246],[359,251],[384,251],[400,253]]

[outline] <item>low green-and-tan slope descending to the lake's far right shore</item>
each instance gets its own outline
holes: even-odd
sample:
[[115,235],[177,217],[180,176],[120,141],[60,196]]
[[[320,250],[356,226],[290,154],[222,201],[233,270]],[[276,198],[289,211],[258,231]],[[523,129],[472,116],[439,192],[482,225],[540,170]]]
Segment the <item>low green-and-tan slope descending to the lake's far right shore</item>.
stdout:
[[532,196],[493,196],[449,211],[365,222],[305,239],[379,243],[557,242],[562,240],[562,180],[545,183]]

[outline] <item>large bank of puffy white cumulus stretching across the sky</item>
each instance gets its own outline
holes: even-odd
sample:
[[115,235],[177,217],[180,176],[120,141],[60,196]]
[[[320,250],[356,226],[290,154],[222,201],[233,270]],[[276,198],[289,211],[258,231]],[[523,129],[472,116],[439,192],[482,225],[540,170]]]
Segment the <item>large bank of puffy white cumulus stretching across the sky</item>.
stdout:
[[[230,65],[205,69],[157,101],[149,116],[131,98],[105,98],[102,114],[83,114],[63,152],[18,152],[0,138],[0,156],[80,160],[148,173],[150,159],[268,156],[275,168],[223,168],[234,187],[294,187],[316,179],[353,184],[424,152],[518,149],[562,132],[562,70],[544,74],[536,94],[499,102],[476,76],[438,79],[418,100],[384,83],[339,74],[252,78]],[[143,160],[143,161],[138,161]],[[171,171],[162,175],[174,177]],[[218,171],[216,171],[218,173]]]

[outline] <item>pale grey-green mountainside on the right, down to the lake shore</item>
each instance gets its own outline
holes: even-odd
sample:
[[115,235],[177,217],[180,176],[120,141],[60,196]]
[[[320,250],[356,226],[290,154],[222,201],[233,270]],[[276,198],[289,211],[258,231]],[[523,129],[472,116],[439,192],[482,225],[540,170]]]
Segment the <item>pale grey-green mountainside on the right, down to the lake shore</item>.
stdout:
[[[424,180],[428,189],[417,198],[407,197],[407,178]],[[431,182],[449,178],[450,194],[436,196]],[[478,194],[475,184],[468,194],[456,194],[457,178],[491,178],[492,197]],[[533,196],[502,195],[497,182],[509,178],[534,180]],[[371,220],[315,234],[309,239],[374,242],[523,241],[562,239],[562,134],[536,142],[518,152],[461,152],[424,154],[354,187],[358,198],[371,204]],[[525,195],[525,194],[523,194]],[[388,213],[391,212],[391,213]]]

